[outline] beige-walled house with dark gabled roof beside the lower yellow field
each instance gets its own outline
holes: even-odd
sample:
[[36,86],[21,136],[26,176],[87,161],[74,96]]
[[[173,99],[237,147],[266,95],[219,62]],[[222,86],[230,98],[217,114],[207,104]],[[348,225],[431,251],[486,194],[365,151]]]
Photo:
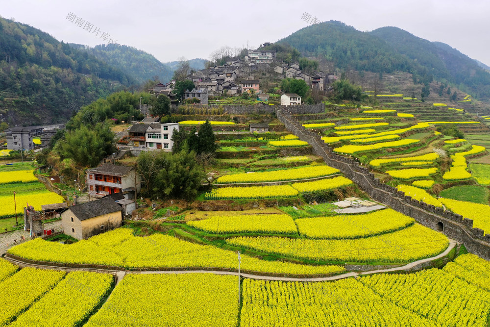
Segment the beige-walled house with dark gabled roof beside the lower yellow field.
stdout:
[[112,198],[72,205],[61,212],[63,233],[77,240],[121,227],[121,206]]

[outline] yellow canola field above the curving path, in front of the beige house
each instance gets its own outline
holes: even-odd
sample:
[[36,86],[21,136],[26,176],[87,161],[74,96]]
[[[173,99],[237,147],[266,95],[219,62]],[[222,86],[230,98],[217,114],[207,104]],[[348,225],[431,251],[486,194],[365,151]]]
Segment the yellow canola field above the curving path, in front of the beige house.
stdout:
[[[118,228],[74,244],[44,241],[40,238],[22,243],[8,253],[30,260],[98,264],[123,268],[214,267],[238,269],[237,254],[210,245],[199,245],[178,238],[153,234],[136,237],[127,228]],[[242,255],[242,270],[279,274],[337,274],[337,265],[302,265],[268,261]]]

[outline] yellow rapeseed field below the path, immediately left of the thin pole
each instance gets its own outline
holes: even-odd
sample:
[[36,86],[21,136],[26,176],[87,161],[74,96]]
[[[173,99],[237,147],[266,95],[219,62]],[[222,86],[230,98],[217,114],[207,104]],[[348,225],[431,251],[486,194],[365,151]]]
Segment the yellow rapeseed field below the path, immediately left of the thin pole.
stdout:
[[237,276],[126,275],[85,326],[235,327],[237,285]]

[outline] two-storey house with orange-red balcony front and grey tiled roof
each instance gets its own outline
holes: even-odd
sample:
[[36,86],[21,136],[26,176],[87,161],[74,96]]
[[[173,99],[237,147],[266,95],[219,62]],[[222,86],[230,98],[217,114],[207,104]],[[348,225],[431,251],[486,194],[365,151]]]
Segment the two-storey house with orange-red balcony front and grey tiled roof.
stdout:
[[108,194],[141,190],[141,179],[134,167],[102,164],[86,173],[90,197],[102,198]]

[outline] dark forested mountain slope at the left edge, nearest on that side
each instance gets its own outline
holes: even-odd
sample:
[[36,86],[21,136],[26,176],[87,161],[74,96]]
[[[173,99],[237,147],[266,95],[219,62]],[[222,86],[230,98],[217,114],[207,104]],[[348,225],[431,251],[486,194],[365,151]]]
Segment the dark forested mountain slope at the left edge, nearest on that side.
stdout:
[[136,81],[86,51],[29,25],[0,18],[0,121],[63,123],[72,108]]

